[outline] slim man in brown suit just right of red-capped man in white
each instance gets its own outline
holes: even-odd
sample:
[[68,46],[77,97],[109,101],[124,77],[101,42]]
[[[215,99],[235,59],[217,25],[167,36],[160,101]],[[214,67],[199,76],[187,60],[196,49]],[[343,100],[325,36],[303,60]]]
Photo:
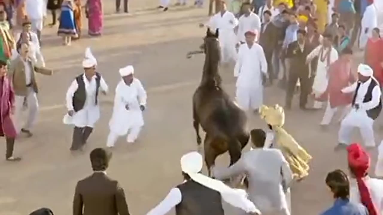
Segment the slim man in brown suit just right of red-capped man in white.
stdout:
[[264,11],[264,23],[261,24],[261,32],[259,38],[259,44],[262,46],[265,52],[265,57],[267,61],[267,73],[270,78],[270,83],[273,83],[275,77],[273,72],[273,52],[274,48],[277,45],[277,27],[272,23],[271,17],[272,13],[270,10]]

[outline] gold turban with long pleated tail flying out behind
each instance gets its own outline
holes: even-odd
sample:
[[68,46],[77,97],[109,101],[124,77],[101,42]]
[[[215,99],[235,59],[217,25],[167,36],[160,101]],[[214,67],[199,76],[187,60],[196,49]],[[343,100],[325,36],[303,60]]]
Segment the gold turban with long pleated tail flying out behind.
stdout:
[[308,176],[308,162],[312,157],[283,129],[285,124],[285,111],[283,108],[278,104],[274,107],[264,105],[259,109],[259,113],[261,118],[271,125],[275,131],[275,142],[285,156],[295,177],[300,179]]

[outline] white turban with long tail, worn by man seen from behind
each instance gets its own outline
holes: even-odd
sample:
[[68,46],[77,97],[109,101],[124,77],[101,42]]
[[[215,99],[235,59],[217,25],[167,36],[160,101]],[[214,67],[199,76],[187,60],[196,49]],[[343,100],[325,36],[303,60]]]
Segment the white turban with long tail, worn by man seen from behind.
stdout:
[[260,214],[260,211],[255,207],[254,203],[247,199],[247,194],[244,190],[232,189],[222,181],[204,176],[203,174],[199,173],[202,169],[202,166],[202,156],[196,151],[187,153],[181,158],[182,171],[187,173],[193,181],[218,191],[221,194],[223,200],[234,207],[246,208],[247,213],[253,212]]

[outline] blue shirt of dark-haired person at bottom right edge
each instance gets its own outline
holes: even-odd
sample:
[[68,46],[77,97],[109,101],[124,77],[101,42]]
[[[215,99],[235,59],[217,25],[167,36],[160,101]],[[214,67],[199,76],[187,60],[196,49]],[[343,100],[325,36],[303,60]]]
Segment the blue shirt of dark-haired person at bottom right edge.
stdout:
[[362,204],[337,199],[334,205],[321,215],[368,215],[368,211]]

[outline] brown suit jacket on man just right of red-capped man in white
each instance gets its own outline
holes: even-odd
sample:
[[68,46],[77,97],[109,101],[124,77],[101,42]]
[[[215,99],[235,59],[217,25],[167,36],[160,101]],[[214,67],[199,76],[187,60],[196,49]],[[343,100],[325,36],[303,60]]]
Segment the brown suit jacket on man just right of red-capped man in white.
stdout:
[[266,29],[264,28],[265,28],[265,23],[262,23],[259,44],[264,49],[265,53],[266,52],[272,53],[278,42],[277,41],[278,29],[271,21],[266,25]]

